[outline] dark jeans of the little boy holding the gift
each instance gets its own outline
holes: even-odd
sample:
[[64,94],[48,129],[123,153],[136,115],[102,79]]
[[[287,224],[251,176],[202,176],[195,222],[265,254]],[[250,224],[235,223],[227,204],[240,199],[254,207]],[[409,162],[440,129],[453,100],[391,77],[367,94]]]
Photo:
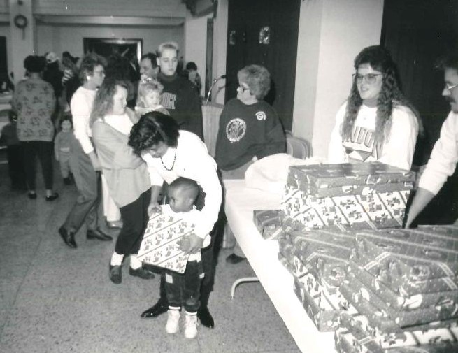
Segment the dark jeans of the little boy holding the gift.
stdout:
[[165,291],[170,306],[185,308],[189,313],[200,307],[201,261],[188,261],[185,273],[166,270]]

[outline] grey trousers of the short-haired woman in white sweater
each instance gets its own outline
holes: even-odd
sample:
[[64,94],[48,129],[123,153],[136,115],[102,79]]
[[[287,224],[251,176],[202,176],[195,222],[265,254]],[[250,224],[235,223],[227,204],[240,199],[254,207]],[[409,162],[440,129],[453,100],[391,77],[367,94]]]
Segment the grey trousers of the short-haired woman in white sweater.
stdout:
[[64,228],[76,232],[85,222],[87,229],[97,229],[103,224],[100,173],[94,170],[91,159],[77,140],[71,145],[70,165],[78,196],[64,222]]

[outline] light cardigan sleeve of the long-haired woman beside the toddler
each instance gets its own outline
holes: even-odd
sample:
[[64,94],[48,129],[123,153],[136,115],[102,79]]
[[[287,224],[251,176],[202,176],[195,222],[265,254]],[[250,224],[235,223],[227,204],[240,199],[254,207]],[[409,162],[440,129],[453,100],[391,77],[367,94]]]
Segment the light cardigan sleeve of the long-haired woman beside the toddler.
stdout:
[[92,137],[97,149],[97,155],[103,168],[106,169],[135,169],[143,164],[132,148],[127,145],[127,136],[113,134],[103,122],[95,122],[92,126]]

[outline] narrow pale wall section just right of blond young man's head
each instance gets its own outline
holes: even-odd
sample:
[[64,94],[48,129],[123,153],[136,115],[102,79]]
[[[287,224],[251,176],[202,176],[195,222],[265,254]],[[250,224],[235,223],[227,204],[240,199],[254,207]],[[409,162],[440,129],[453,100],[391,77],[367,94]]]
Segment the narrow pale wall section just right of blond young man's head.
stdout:
[[202,79],[201,94],[205,89],[208,18],[211,15],[193,18],[188,14],[185,22],[185,64],[196,63],[197,72]]

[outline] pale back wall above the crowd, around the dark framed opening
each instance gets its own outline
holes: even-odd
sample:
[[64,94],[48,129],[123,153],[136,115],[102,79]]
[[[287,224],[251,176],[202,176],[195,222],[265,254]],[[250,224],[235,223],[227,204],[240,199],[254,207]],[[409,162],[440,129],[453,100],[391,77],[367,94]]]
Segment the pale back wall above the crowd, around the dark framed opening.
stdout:
[[52,50],[57,55],[68,50],[71,55],[83,55],[83,38],[140,38],[143,39],[143,53],[155,52],[157,45],[164,41],[176,41],[183,48],[183,26],[177,27],[90,27],[90,26],[36,26],[38,54]]

